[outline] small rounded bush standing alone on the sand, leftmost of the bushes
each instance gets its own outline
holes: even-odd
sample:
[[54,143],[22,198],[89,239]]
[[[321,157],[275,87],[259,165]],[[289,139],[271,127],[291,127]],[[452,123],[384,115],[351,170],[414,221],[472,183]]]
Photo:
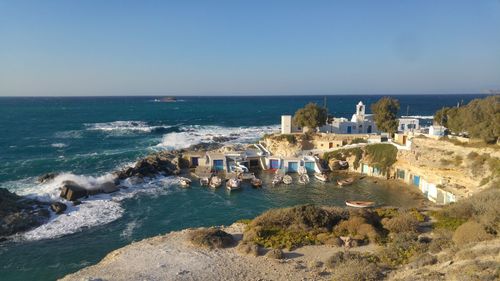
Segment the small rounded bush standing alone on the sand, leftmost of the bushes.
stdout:
[[234,244],[231,234],[218,228],[201,228],[192,230],[189,240],[196,246],[214,248],[227,248]]

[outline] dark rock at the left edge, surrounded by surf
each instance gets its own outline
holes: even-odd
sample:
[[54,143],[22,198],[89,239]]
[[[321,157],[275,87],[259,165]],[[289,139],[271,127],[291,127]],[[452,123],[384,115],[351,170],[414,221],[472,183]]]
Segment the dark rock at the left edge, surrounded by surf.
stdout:
[[47,204],[0,188],[0,238],[37,227],[48,218]]

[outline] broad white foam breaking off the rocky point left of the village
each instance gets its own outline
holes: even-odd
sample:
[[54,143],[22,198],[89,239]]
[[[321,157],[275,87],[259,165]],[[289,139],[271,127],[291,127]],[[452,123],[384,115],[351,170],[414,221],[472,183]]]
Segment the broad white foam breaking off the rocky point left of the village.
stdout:
[[224,143],[252,143],[264,134],[279,130],[278,125],[253,127],[221,127],[192,125],[181,132],[165,134],[157,146],[166,149],[187,148],[193,144],[216,142],[217,138],[229,138]]

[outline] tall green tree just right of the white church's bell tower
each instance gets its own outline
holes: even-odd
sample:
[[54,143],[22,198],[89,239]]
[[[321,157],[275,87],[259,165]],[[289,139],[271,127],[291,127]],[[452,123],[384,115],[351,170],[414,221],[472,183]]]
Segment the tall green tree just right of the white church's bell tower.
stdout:
[[398,130],[399,101],[383,97],[371,105],[373,117],[380,131],[394,134]]

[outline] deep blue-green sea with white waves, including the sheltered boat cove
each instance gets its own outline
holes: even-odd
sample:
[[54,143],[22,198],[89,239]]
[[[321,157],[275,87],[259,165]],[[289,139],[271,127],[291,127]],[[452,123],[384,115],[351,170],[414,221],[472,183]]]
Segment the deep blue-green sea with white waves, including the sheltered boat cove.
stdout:
[[[443,106],[467,103],[482,95],[396,95],[400,115],[429,125]],[[253,143],[279,131],[280,116],[309,102],[326,103],[329,114],[350,118],[355,105],[381,96],[213,96],[177,97],[0,97],[0,188],[50,202],[59,187],[73,180],[92,188],[114,170],[147,154],[186,148],[214,137]],[[47,184],[37,177],[56,172]],[[262,173],[265,183],[271,175]],[[180,188],[176,177],[156,177],[97,195],[52,214],[49,222],[0,243],[0,279],[55,280],[99,262],[107,253],[147,237],[188,227],[229,225],[276,207],[298,204],[342,206],[346,199],[411,206],[404,188],[360,181],[339,189],[312,182],[237,192],[209,190],[196,182]]]

